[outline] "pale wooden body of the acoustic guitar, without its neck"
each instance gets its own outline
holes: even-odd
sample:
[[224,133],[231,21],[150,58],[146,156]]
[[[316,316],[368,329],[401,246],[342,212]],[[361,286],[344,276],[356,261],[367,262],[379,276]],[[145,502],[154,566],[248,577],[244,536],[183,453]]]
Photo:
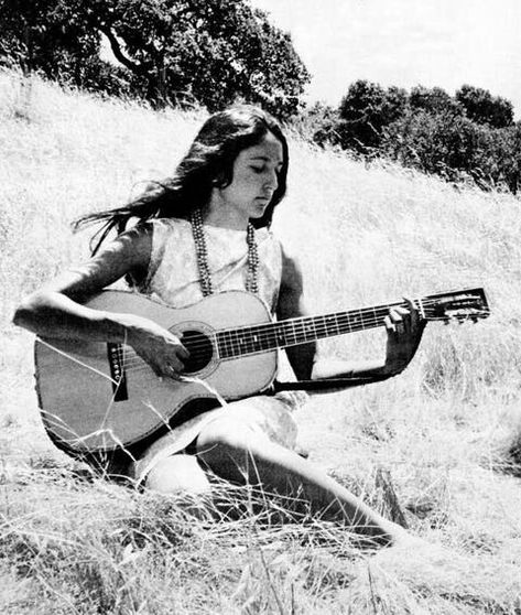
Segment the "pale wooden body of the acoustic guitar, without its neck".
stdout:
[[129,346],[36,339],[43,421],[65,449],[95,452],[131,445],[164,428],[194,400],[240,399],[268,388],[275,377],[276,348],[221,359],[215,344],[219,330],[271,322],[265,304],[253,294],[229,291],[175,310],[138,293],[104,291],[86,305],[148,317],[183,342],[192,336],[198,359],[187,365],[186,376],[194,380],[177,381],[158,378]]

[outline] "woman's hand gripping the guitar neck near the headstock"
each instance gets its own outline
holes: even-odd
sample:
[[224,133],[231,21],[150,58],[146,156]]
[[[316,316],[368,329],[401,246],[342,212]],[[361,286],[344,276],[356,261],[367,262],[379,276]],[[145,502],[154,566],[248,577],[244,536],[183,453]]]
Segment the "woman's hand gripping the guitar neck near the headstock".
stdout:
[[386,316],[387,354],[386,371],[403,371],[416,353],[426,321],[420,317],[411,299],[404,298],[408,308],[397,306]]

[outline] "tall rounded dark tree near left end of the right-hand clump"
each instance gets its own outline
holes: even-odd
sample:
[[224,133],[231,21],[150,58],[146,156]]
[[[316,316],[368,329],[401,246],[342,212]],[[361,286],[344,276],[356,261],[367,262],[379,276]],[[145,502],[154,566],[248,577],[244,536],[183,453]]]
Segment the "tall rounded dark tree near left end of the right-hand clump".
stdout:
[[367,152],[378,148],[383,130],[403,115],[408,95],[404,89],[358,80],[341,99],[337,131],[346,149]]

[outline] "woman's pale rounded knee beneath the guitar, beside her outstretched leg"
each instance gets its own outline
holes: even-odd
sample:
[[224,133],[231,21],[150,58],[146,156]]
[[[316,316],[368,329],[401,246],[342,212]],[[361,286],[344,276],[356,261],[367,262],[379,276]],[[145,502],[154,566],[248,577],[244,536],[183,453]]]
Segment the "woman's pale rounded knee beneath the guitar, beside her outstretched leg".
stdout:
[[149,472],[146,487],[162,494],[206,494],[208,478],[193,455],[171,455],[161,460]]

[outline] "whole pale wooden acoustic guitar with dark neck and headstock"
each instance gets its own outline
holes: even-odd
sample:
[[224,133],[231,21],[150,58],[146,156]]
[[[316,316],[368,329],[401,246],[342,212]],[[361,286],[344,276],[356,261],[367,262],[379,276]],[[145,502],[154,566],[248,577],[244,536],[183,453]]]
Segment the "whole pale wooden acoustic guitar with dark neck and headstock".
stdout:
[[[488,316],[482,289],[416,300],[430,321]],[[37,338],[36,390],[50,435],[73,452],[110,451],[137,443],[200,398],[239,399],[270,387],[278,348],[382,326],[403,302],[323,316],[273,322],[265,304],[243,291],[210,295],[174,310],[143,295],[104,291],[87,305],[145,316],[181,337],[189,350],[185,381],[158,378],[124,344]]]

